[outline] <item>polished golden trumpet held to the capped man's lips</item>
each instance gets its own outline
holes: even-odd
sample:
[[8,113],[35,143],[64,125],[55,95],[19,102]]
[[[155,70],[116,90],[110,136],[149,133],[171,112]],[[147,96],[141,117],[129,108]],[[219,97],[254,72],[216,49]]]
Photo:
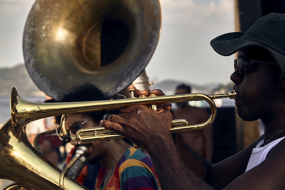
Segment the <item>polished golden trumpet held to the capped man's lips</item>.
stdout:
[[[132,93],[132,91],[131,91]],[[182,101],[201,101],[205,100],[210,108],[211,115],[209,119],[201,124],[190,125],[185,119],[172,120],[171,133],[182,132],[186,130],[201,129],[209,126],[215,120],[217,115],[217,107],[214,99],[230,98],[235,99],[235,91],[230,91],[227,94],[205,95],[201,93],[168,95],[168,96],[155,96],[118,100],[105,100],[105,101],[89,101],[89,102],[69,102],[69,103],[34,103],[19,97],[17,90],[13,87],[11,89],[11,121],[13,132],[17,138],[21,136],[21,130],[26,124],[33,120],[42,119],[45,117],[62,115],[61,119],[61,132],[58,133],[60,139],[66,141],[74,141],[80,144],[81,142],[95,141],[95,140],[109,140],[115,138],[124,138],[114,131],[107,130],[103,127],[85,128],[80,129],[74,136],[67,132],[65,126],[65,119],[70,114],[75,113],[88,113],[96,111],[106,111],[120,109],[133,105],[146,105],[150,109],[156,110],[158,104],[166,102],[176,103]],[[178,126],[183,125],[183,126]]]

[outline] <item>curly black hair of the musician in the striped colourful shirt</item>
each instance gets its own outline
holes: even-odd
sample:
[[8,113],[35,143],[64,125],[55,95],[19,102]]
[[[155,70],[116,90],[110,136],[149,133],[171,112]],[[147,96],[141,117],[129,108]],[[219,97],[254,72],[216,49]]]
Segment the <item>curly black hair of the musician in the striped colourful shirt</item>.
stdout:
[[[85,101],[99,101],[107,100],[107,97],[103,92],[94,84],[84,83],[78,85],[74,90],[68,94],[64,94],[59,97],[58,102],[85,102]],[[99,123],[105,114],[117,114],[119,111],[101,111],[92,113],[82,113],[94,119],[95,122]],[[61,116],[56,117],[56,123],[60,123]]]

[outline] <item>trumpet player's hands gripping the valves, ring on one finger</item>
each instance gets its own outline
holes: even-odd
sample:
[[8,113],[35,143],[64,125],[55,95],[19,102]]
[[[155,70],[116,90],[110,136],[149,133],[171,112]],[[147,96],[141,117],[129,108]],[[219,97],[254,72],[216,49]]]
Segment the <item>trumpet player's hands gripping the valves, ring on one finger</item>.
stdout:
[[[164,95],[161,90],[139,91],[133,85],[129,86],[129,89],[135,89],[135,97],[149,94]],[[147,150],[151,144],[160,143],[163,138],[171,139],[170,127],[173,115],[170,109],[171,103],[163,104],[158,111],[153,111],[144,105],[135,105],[121,109],[119,115],[111,117],[105,115],[100,124]]]

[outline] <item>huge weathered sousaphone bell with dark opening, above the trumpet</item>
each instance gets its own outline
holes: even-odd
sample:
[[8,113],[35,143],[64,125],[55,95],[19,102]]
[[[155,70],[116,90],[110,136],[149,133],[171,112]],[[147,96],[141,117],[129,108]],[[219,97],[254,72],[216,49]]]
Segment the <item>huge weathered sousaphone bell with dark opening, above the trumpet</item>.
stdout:
[[37,0],[24,29],[25,65],[55,99],[85,82],[112,97],[143,73],[160,28],[158,0]]

